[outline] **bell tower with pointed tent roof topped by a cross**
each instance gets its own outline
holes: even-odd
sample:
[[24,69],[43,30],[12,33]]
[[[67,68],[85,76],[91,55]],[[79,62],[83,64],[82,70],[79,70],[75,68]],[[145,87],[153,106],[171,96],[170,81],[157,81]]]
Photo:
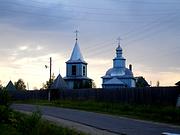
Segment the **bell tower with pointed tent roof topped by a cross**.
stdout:
[[76,41],[70,59],[66,62],[66,76],[63,78],[69,89],[92,88],[92,79],[87,77],[87,65]]

